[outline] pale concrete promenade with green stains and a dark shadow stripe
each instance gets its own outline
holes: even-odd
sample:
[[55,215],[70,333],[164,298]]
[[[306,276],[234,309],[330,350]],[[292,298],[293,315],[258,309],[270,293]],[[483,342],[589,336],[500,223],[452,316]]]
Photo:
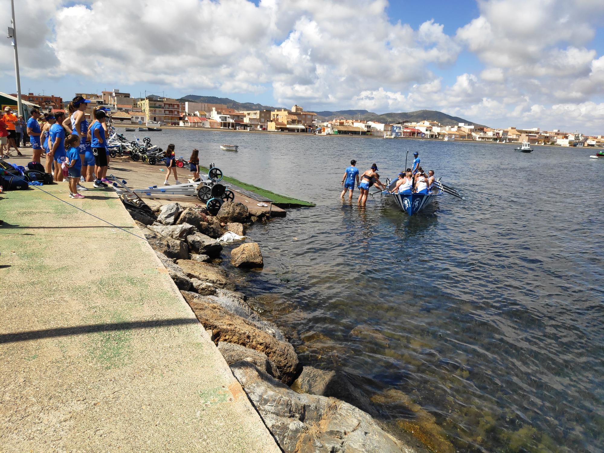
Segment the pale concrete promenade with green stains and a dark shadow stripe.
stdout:
[[[111,190],[43,188],[142,236]],[[0,219],[0,451],[280,451],[145,240],[37,189]]]

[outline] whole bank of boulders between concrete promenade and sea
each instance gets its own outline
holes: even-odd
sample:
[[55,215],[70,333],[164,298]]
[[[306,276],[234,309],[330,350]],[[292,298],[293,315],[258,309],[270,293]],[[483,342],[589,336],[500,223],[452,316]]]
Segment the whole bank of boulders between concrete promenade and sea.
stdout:
[[[359,408],[325,396],[341,385],[336,373],[302,366],[281,329],[260,318],[216,265],[223,251],[217,239],[227,231],[243,236],[252,223],[268,221],[266,214],[235,202],[225,202],[216,216],[179,203],[153,211],[126,207],[284,452],[426,451],[388,434]],[[240,243],[230,262],[262,268],[259,245]]]

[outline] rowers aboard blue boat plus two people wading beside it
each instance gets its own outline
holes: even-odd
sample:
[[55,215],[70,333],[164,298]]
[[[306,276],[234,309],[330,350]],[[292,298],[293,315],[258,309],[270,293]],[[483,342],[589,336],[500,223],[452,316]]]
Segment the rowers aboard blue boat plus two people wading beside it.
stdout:
[[[394,187],[388,190],[390,193],[423,193],[428,194],[432,190],[434,185],[434,170],[429,170],[428,174],[423,171],[420,167],[419,153],[413,153],[413,165],[410,169],[406,169],[399,173],[398,179]],[[350,167],[346,169],[344,176],[342,177],[342,185],[344,190],[340,195],[340,198],[344,198],[344,194],[349,190],[349,199],[352,199],[352,192],[356,186],[361,192],[359,194],[358,204],[361,206],[367,202],[367,195],[369,188],[372,185],[376,185],[382,190],[387,190],[387,186],[379,180],[379,173],[377,173],[377,165],[371,164],[371,168],[366,170],[362,175],[359,176],[359,170],[356,169],[356,161],[353,159],[350,161]]]

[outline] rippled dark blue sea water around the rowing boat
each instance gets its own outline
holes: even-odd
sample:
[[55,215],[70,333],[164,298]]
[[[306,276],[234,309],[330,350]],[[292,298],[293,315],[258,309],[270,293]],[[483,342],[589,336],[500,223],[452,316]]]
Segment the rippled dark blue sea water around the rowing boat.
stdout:
[[[347,373],[359,390],[352,402],[392,429],[428,432],[417,403],[457,451],[604,450],[604,162],[588,158],[593,150],[186,130],[152,138],[317,204],[252,226],[265,269],[242,276],[305,364]],[[350,159],[392,177],[407,148],[408,166],[417,150],[466,199],[445,196],[414,217],[379,195],[365,208],[339,199]]]

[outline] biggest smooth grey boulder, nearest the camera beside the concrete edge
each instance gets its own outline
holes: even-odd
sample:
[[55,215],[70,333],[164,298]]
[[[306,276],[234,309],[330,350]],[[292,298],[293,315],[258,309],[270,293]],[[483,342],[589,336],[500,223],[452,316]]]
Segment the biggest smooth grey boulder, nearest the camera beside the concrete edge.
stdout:
[[349,403],[296,393],[247,361],[231,370],[285,453],[416,453]]

